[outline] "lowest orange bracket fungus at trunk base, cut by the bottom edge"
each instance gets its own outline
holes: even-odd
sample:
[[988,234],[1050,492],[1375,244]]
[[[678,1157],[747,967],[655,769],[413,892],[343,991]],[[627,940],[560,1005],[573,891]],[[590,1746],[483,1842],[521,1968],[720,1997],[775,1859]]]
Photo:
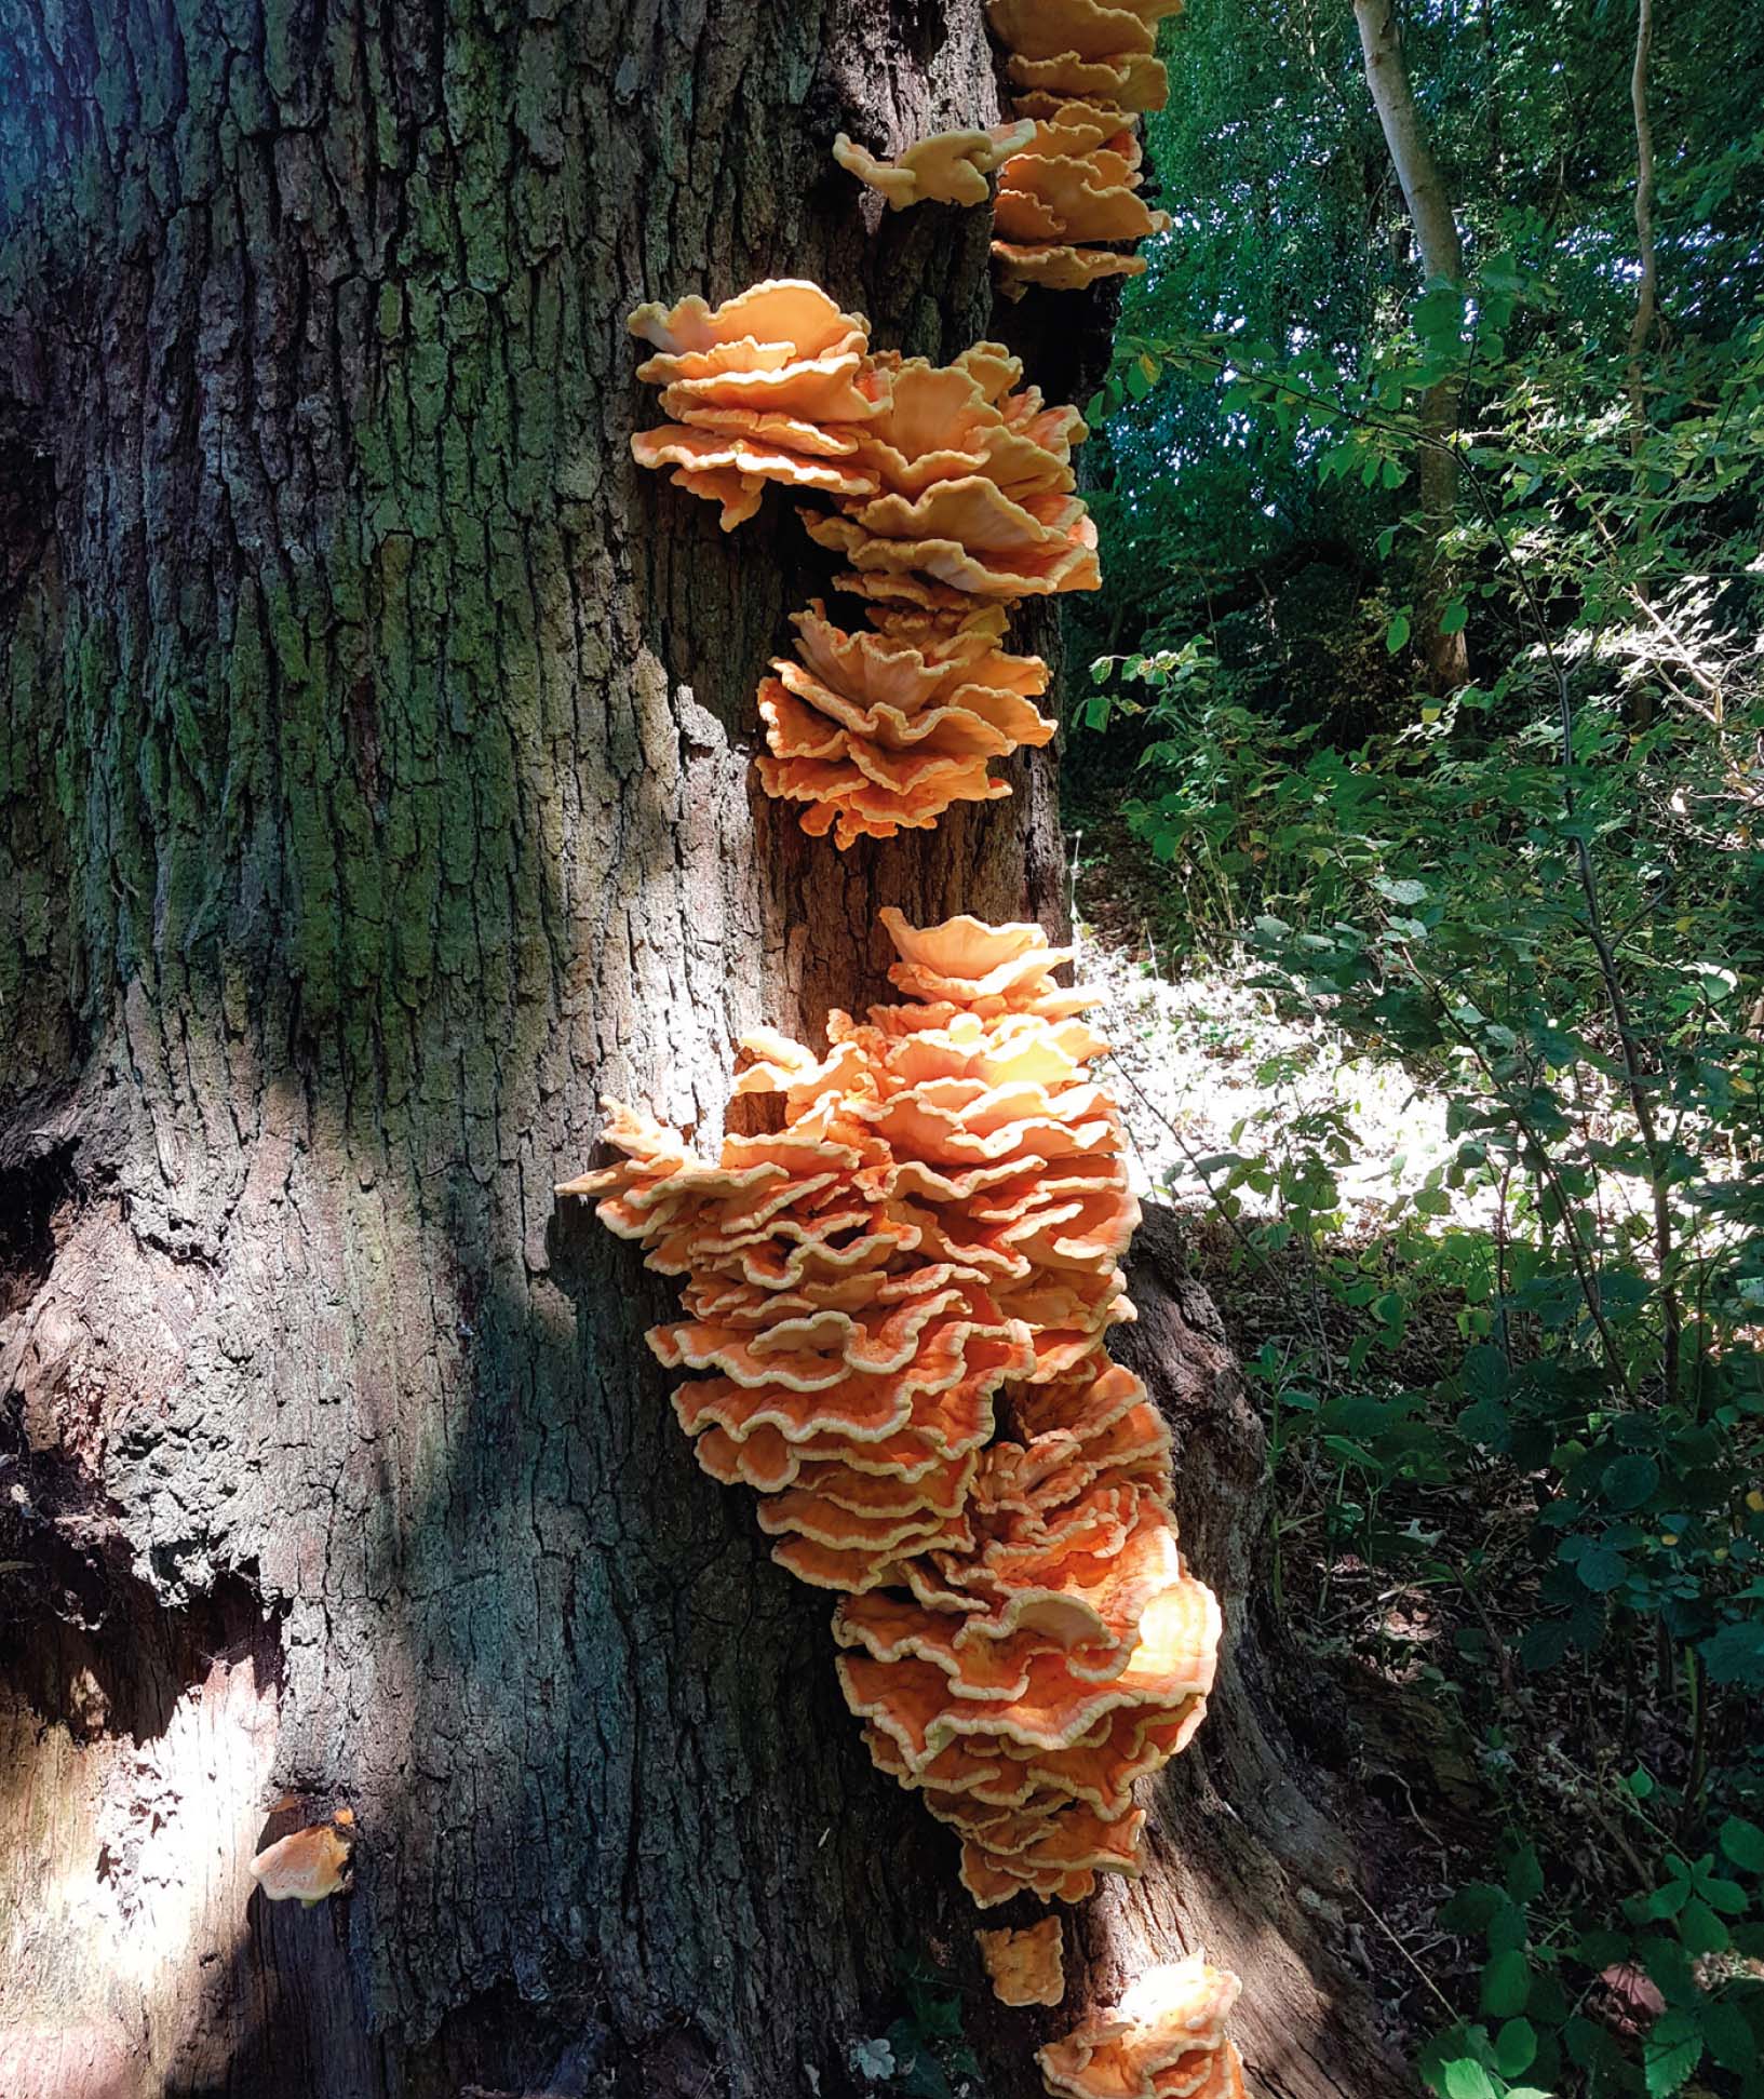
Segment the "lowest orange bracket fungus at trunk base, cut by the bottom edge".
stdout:
[[1241,1984],[1199,1956],[1147,1969],[1121,2002],[1035,2053],[1056,2099],[1243,2099],[1224,2034]]

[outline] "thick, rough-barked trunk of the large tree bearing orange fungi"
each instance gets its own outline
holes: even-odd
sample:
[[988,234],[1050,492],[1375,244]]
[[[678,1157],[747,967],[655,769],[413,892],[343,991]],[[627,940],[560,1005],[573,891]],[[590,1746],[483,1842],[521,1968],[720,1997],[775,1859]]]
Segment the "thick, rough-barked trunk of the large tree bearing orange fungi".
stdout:
[[[899,1956],[974,1981],[953,1849],[695,1469],[670,1291],[550,1188],[601,1091],[714,1136],[739,1031],[876,989],[882,903],[1058,917],[1046,760],[844,858],[754,796],[825,571],[626,451],[647,296],[987,332],[985,214],[827,157],[991,118],[979,4],[0,0],[0,2089],[850,2091]],[[1241,1832],[1096,1975],[1210,1942],[1268,2089],[1376,2095],[1281,1879],[1323,1826],[1218,1755]],[[338,1805],[353,1893],[252,1895]]]

